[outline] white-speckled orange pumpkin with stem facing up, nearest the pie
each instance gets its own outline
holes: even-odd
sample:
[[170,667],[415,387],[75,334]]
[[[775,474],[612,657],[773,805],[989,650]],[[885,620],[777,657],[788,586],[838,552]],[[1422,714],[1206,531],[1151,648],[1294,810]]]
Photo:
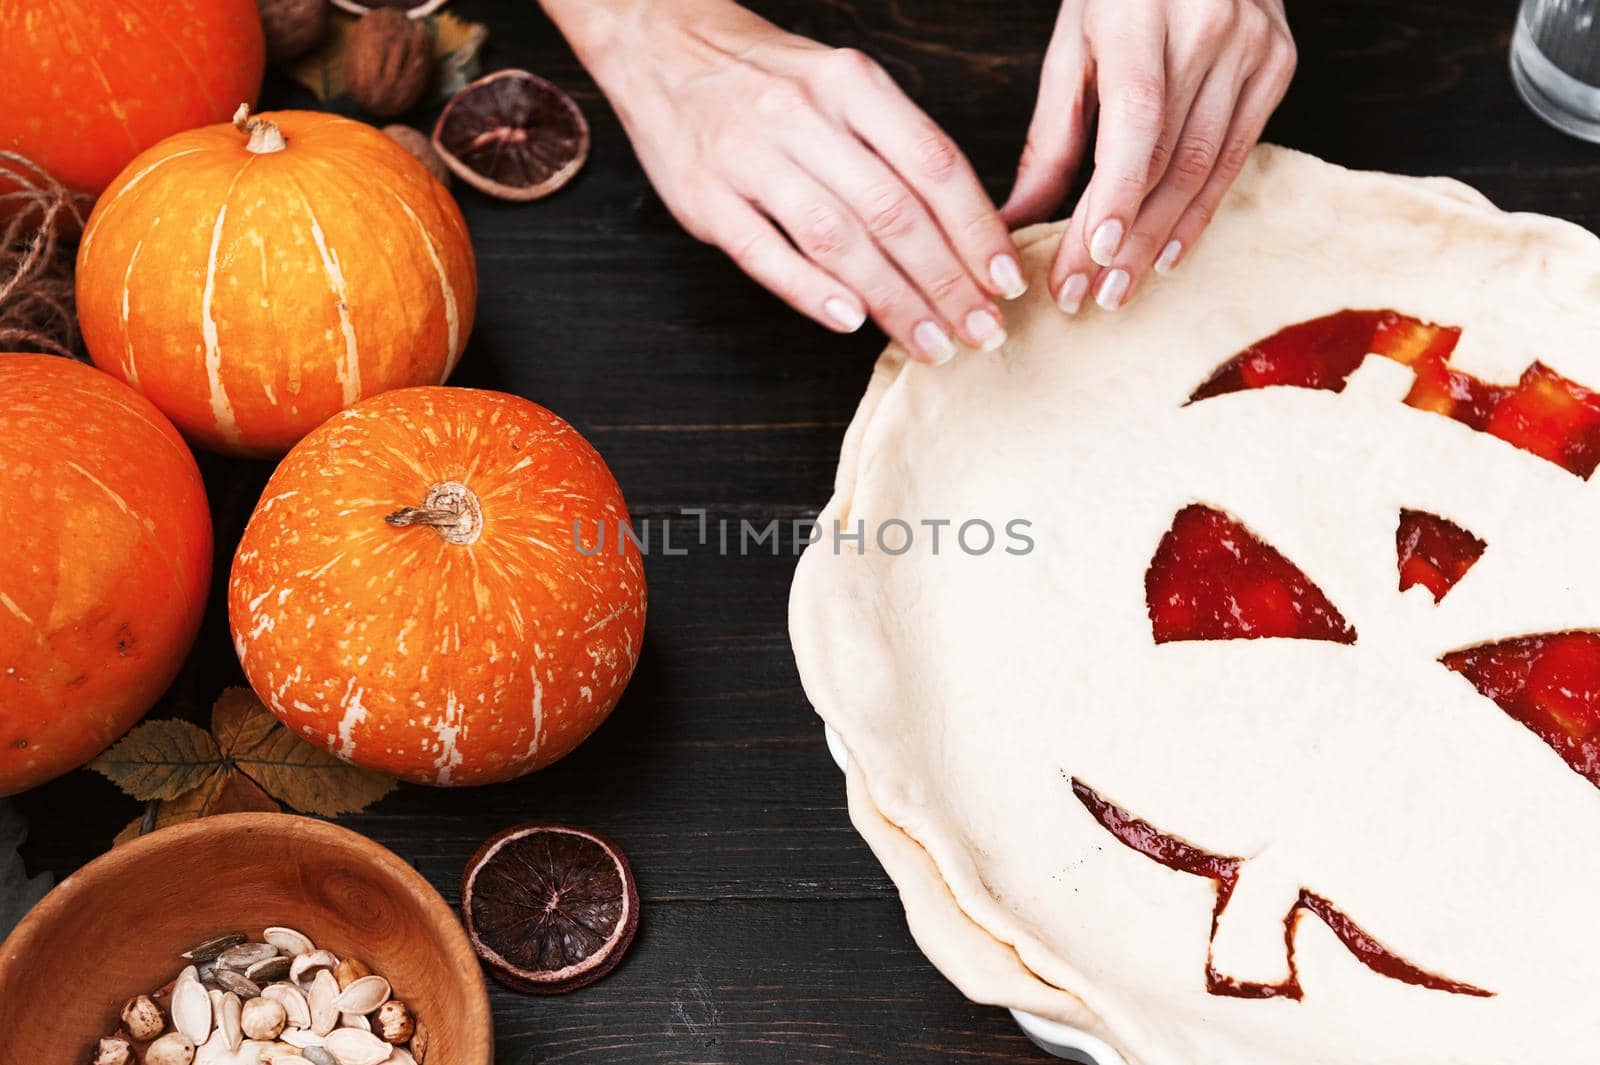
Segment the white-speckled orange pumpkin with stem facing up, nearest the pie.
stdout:
[[347,761],[419,784],[522,776],[578,747],[634,672],[627,520],[605,461],[536,403],[365,400],[267,481],[227,590],[238,660]]

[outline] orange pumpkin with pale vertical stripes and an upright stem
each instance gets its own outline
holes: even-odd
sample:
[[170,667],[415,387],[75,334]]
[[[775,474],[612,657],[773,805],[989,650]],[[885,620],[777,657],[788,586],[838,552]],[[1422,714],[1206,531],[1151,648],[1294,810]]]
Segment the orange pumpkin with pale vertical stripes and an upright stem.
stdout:
[[362,397],[442,382],[477,267],[422,163],[288,110],[139,155],[90,216],[77,289],[98,366],[206,448],[280,454]]

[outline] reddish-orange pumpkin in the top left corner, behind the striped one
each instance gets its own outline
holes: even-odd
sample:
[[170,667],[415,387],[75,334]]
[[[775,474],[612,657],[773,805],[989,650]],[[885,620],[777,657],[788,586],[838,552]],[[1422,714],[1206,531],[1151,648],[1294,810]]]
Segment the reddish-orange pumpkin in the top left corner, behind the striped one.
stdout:
[[0,149],[98,193],[134,155],[254,106],[254,0],[0,3]]

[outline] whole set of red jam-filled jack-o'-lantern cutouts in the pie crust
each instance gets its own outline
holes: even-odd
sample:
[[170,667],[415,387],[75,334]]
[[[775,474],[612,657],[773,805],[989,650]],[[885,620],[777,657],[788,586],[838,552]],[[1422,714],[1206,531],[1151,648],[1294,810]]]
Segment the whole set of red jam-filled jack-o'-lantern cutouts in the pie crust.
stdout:
[[[1342,390],[1368,353],[1410,366],[1410,406],[1445,414],[1475,430],[1555,462],[1576,477],[1600,464],[1600,395],[1534,365],[1515,387],[1491,387],[1451,369],[1461,331],[1395,312],[1339,312],[1304,321],[1251,345],[1222,365],[1190,401],[1246,389]],[[1395,531],[1398,590],[1427,588],[1440,601],[1488,545],[1454,521],[1402,509]],[[1146,608],[1155,643],[1203,640],[1325,640],[1357,643],[1355,628],[1293,561],[1237,518],[1203,504],[1179,510],[1146,572]],[[1538,633],[1454,651],[1440,662],[1466,676],[1512,718],[1528,726],[1566,764],[1600,787],[1600,635]],[[1128,848],[1168,868],[1218,883],[1218,918],[1245,859],[1210,854],[1139,820],[1074,780],[1085,809]],[[1294,969],[1296,923],[1320,918],[1363,964],[1382,975],[1458,995],[1490,995],[1400,958],[1338,905],[1306,888],[1285,915],[1288,977],[1251,982],[1206,966],[1206,988],[1235,998],[1301,998]]]

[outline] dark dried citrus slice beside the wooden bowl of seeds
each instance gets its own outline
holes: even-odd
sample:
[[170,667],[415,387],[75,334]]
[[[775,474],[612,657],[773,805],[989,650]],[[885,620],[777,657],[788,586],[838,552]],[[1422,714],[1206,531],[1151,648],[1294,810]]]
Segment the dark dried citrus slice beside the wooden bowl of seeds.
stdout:
[[461,876],[467,935],[490,974],[534,995],[594,983],[638,931],[638,886],[614,843],[568,825],[491,836]]

